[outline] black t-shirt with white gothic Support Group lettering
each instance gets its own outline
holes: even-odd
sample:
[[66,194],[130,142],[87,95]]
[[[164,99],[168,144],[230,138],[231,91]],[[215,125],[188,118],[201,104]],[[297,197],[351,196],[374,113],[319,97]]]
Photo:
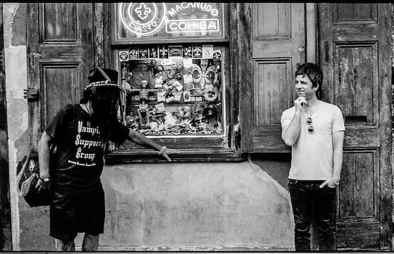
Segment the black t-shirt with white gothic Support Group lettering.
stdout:
[[[54,138],[51,154],[52,186],[55,190],[78,194],[102,188],[103,140],[90,115],[79,104],[59,110],[45,131]],[[121,144],[129,133],[119,122],[110,129],[109,139]]]

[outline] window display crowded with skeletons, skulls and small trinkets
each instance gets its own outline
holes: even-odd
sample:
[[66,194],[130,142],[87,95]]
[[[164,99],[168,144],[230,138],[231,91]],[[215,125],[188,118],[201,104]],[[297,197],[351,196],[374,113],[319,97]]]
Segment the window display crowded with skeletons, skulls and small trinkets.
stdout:
[[223,51],[198,43],[119,49],[123,124],[145,135],[224,135]]

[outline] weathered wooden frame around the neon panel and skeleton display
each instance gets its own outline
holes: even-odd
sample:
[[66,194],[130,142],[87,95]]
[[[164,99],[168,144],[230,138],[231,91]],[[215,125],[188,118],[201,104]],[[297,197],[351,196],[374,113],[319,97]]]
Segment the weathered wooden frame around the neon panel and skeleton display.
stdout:
[[[107,3],[108,15],[107,24],[104,25],[104,34],[107,31],[112,30],[112,33],[107,32],[107,40],[104,42],[104,47],[109,48],[110,52],[107,51],[108,57],[106,58],[105,63],[111,66],[111,68],[118,70],[119,69],[119,61],[118,61],[118,49],[122,46],[133,44],[179,44],[179,41],[173,39],[148,39],[141,43],[141,40],[121,40],[115,41],[114,37],[116,32],[112,29],[113,22],[115,19],[114,13],[114,3]],[[222,101],[225,108],[225,122],[226,126],[223,126],[225,129],[225,136],[218,137],[204,137],[204,135],[196,136],[196,137],[182,137],[180,136],[172,136],[172,137],[157,137],[157,136],[148,136],[152,138],[155,142],[159,144],[166,145],[170,148],[177,149],[181,151],[181,154],[171,156],[171,161],[241,161],[244,160],[244,156],[240,153],[239,145],[235,145],[234,141],[234,133],[233,126],[234,121],[238,119],[238,88],[234,87],[233,84],[233,73],[234,67],[233,57],[234,50],[233,43],[236,42],[233,38],[229,36],[229,27],[236,27],[236,20],[233,20],[233,17],[230,18],[230,9],[234,8],[234,3],[224,3],[224,38],[221,39],[207,39],[207,38],[187,38],[182,39],[183,43],[193,43],[199,42],[204,43],[209,40],[209,44],[215,44],[218,46],[223,46],[225,58],[223,59],[223,82],[225,83],[225,88],[223,89],[224,100]],[[105,15],[105,13],[104,13]],[[231,14],[233,16],[233,14]],[[232,24],[232,25],[231,25]],[[235,31],[237,32],[237,31]],[[114,42],[115,41],[115,42]],[[236,45],[235,45],[236,47]],[[106,51],[106,50],[104,50]],[[235,92],[234,92],[235,91]],[[234,109],[233,107],[236,107]],[[234,113],[236,115],[234,115]],[[146,149],[134,144],[131,141],[126,140],[123,147],[127,147],[128,149],[116,149],[113,152],[106,155],[106,163],[107,164],[115,164],[115,163],[128,163],[128,162],[160,162],[163,161],[163,157],[157,156],[157,151],[152,149]]]

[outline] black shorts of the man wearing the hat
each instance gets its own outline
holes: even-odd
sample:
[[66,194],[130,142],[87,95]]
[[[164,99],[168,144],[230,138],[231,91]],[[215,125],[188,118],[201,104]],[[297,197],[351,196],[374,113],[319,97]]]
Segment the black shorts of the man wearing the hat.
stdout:
[[54,191],[50,207],[50,236],[73,241],[79,232],[98,235],[104,232],[104,190],[93,194],[65,194]]

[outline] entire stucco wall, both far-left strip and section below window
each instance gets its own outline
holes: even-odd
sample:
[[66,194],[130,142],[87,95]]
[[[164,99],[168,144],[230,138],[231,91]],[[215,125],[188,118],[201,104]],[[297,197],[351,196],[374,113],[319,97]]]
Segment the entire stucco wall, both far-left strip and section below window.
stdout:
[[[27,101],[23,99],[26,3],[3,3],[3,15],[12,248],[55,250],[56,241],[48,236],[48,207],[29,208],[15,192],[17,165],[29,152]],[[288,170],[287,162],[106,167],[102,179],[107,217],[101,249],[292,249],[293,219],[283,184],[286,173],[278,175],[281,170]],[[81,238],[80,234],[77,246]]]

